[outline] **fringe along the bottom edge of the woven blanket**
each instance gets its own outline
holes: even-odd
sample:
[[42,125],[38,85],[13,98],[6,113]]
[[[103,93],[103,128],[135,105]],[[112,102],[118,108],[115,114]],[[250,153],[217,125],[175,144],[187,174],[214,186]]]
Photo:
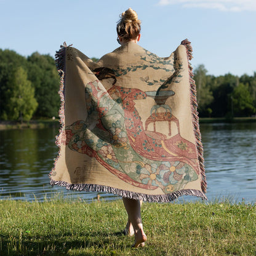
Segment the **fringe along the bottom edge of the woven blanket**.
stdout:
[[97,185],[97,184],[70,184],[62,181],[55,181],[50,179],[50,185],[65,186],[67,190],[87,191],[87,192],[105,192],[116,194],[124,198],[142,200],[147,202],[171,202],[179,196],[197,196],[206,199],[206,195],[199,190],[178,190],[170,194],[142,194],[127,190],[120,190],[112,188],[111,186]]

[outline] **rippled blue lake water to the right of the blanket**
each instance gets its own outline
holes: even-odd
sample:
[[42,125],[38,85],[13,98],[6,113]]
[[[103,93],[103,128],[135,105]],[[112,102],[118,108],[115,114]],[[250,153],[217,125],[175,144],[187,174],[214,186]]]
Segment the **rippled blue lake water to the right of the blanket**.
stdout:
[[256,201],[256,124],[202,124],[208,196]]

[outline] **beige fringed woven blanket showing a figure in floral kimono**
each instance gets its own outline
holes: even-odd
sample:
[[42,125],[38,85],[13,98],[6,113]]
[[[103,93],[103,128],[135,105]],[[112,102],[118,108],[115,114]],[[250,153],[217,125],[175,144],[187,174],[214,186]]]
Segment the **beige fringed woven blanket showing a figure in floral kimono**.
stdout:
[[191,52],[187,39],[166,58],[127,42],[93,62],[62,46],[50,184],[149,202],[206,199]]

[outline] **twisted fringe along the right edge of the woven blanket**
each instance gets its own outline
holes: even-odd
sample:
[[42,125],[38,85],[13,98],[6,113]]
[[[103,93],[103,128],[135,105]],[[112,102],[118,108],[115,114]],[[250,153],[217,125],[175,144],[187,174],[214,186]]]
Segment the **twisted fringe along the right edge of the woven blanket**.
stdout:
[[196,101],[196,82],[194,81],[193,77],[193,68],[191,66],[190,60],[193,58],[192,56],[192,47],[191,42],[188,41],[188,39],[185,39],[181,42],[183,46],[186,47],[186,55],[188,57],[188,71],[190,74],[190,100],[191,100],[191,111],[192,111],[192,117],[193,117],[193,127],[194,127],[194,135],[196,137],[196,146],[198,149],[198,160],[199,160],[199,166],[201,170],[201,188],[204,193],[206,193],[207,188],[207,182],[206,182],[206,170],[204,168],[204,150],[202,148],[202,142],[201,142],[201,132],[199,129],[199,117],[198,117],[198,103]]

